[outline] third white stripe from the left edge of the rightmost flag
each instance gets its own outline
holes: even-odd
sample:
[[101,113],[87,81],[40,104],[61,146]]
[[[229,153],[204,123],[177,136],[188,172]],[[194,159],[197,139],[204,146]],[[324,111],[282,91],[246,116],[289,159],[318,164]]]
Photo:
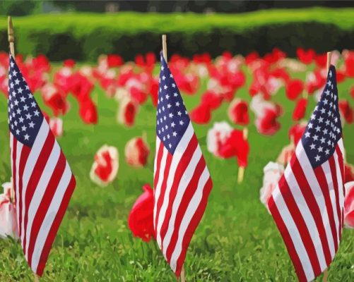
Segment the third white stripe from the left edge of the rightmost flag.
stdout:
[[302,147],[302,142],[297,143],[296,156],[300,163],[302,171],[305,174],[307,183],[309,183],[312,193],[314,194],[314,198],[316,199],[316,202],[319,206],[322,222],[324,224],[324,230],[326,232],[327,242],[329,243],[329,251],[331,252],[331,257],[334,257],[334,241],[331,233],[331,226],[329,225],[329,216],[326,209],[326,203],[324,202],[324,195],[314,174],[314,169],[312,168],[309,159],[307,159],[305,149],[304,147]]

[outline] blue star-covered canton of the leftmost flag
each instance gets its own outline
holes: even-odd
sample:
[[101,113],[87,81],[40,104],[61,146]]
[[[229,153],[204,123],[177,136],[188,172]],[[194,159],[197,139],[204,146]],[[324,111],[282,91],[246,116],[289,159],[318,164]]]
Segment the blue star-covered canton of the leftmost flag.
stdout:
[[29,147],[33,146],[43,115],[27,82],[10,55],[8,70],[8,127],[16,139]]

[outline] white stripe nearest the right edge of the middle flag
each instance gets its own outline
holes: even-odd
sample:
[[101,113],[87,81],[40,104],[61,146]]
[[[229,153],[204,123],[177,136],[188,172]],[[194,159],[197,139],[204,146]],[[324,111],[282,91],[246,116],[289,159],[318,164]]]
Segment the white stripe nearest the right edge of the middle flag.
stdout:
[[183,216],[181,226],[179,226],[178,240],[170,261],[171,268],[173,271],[176,271],[177,260],[179,259],[179,255],[181,255],[182,252],[182,242],[184,240],[184,235],[186,235],[189,223],[191,222],[191,219],[193,218],[194,214],[196,213],[196,210],[199,207],[199,204],[201,203],[201,198],[203,197],[203,190],[206,185],[206,181],[208,181],[209,177],[210,175],[208,168],[205,167],[203,173],[201,173],[201,177],[199,178],[196,192],[194,192],[193,197],[191,197],[191,201],[188,204],[186,213]]

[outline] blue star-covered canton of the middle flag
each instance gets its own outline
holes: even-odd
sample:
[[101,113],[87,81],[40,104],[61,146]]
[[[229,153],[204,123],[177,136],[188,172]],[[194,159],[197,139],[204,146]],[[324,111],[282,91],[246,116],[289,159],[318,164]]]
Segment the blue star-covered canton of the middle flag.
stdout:
[[166,149],[173,154],[187,130],[190,119],[170,68],[168,68],[162,54],[156,116],[156,134]]

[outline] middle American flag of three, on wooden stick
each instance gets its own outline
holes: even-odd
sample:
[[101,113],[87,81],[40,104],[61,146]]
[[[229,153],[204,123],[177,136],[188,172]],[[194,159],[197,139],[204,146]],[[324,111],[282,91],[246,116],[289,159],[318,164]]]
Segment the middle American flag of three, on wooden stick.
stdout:
[[179,276],[213,183],[176,82],[161,55],[154,166],[158,246]]

